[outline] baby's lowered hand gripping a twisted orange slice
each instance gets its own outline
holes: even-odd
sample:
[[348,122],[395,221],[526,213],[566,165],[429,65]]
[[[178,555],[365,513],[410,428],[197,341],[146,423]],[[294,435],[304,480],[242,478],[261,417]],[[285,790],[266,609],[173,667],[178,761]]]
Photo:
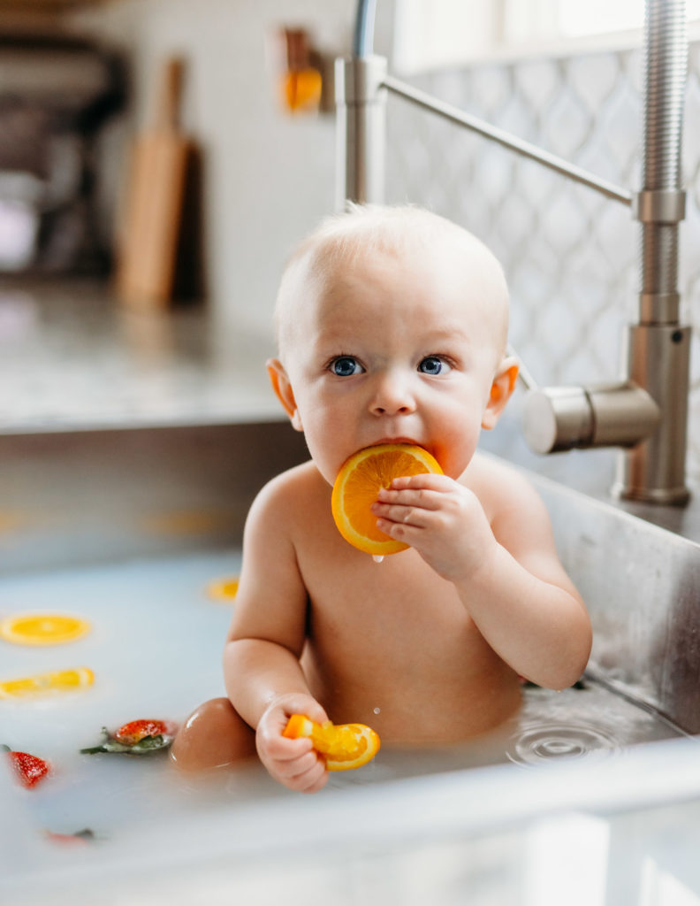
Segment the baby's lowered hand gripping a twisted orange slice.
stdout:
[[328,720],[321,705],[310,695],[300,692],[274,699],[255,731],[258,756],[270,775],[283,786],[300,793],[316,793],[325,786],[328,771],[311,739],[283,737],[283,729],[292,714],[306,714],[318,723]]

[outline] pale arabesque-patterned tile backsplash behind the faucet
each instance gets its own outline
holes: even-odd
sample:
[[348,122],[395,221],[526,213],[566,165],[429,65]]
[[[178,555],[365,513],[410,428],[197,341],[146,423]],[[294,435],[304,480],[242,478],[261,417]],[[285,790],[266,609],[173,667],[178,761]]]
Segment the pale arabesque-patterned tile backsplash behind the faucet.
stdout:
[[[479,65],[419,87],[621,186],[639,185],[639,51]],[[694,327],[688,471],[700,480],[700,43],[690,47],[684,128],[682,313]],[[511,339],[542,383],[618,375],[634,320],[638,225],[628,208],[465,130],[391,99],[388,201],[432,207],[474,230],[503,262]]]

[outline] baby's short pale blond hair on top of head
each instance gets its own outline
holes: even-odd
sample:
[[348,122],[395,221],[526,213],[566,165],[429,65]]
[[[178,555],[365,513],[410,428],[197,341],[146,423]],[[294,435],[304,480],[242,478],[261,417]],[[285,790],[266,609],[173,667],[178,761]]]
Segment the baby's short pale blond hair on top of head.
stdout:
[[401,258],[430,255],[437,250],[459,256],[465,280],[474,281],[478,265],[482,283],[493,297],[498,319],[500,354],[508,329],[508,288],[503,269],[493,253],[476,236],[445,217],[422,207],[354,205],[342,214],[321,220],[297,246],[284,268],[275,304],[275,328],[280,353],[290,339],[295,304],[304,295],[328,292],[333,282],[368,256]]

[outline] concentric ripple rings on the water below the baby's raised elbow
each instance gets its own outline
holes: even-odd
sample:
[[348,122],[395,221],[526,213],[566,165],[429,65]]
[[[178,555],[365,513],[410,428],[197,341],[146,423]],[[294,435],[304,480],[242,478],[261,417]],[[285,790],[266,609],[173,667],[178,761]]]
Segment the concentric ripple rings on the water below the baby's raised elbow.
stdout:
[[608,730],[590,724],[542,723],[511,737],[506,755],[516,764],[535,765],[551,758],[608,757],[621,748]]

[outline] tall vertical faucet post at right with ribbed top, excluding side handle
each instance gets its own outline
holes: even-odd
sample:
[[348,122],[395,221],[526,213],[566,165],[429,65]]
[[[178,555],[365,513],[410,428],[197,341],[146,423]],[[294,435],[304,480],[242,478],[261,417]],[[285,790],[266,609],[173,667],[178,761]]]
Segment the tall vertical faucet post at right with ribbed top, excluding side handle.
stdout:
[[630,328],[628,375],[656,400],[653,435],[618,466],[615,493],[686,502],[690,329],[678,322],[678,222],[685,217],[681,140],[687,68],[686,5],[647,0],[640,222],[639,324]]

